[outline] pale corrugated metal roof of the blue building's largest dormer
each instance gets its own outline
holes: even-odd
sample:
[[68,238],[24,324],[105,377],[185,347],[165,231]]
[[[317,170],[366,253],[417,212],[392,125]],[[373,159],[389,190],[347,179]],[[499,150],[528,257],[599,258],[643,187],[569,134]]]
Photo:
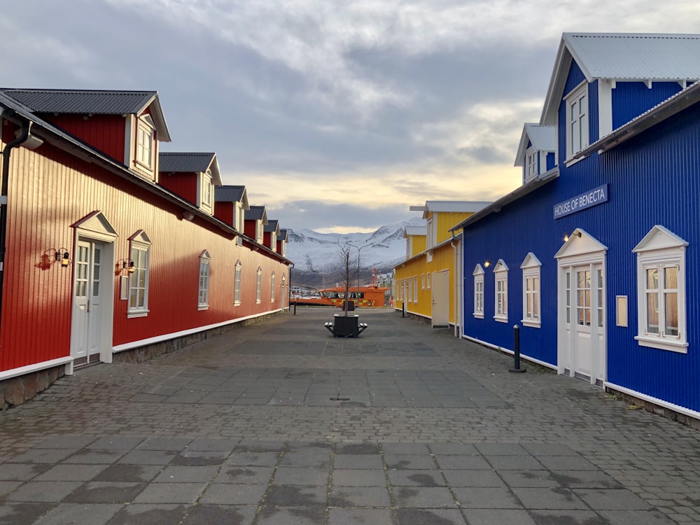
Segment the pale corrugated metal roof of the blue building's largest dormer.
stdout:
[[540,124],[556,125],[571,62],[586,80],[698,80],[700,35],[564,33],[556,53]]

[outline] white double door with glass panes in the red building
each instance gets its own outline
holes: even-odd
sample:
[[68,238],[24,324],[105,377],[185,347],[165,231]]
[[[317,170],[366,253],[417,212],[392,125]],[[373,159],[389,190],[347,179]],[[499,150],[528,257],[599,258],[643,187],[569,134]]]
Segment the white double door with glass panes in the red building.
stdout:
[[78,241],[73,285],[71,356],[87,358],[99,353],[102,253],[104,244]]

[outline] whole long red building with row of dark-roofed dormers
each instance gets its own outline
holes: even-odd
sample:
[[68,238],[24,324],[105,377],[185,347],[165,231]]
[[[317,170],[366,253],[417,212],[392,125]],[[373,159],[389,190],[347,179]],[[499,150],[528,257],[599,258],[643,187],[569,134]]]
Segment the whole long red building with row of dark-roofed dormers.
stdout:
[[156,92],[0,90],[0,109],[0,409],[286,307],[291,262],[244,232],[245,188],[214,153],[158,151]]

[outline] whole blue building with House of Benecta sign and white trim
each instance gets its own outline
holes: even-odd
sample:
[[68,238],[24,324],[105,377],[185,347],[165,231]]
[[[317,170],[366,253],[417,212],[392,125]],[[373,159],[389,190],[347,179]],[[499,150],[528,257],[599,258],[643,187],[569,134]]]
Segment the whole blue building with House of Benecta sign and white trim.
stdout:
[[523,184],[463,228],[463,337],[700,419],[700,36],[563,34]]

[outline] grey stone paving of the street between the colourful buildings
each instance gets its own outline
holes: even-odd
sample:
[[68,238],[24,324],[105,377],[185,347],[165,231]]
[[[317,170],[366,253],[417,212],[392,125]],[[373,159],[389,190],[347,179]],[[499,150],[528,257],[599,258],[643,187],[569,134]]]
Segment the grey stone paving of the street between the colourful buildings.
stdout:
[[297,309],[0,413],[3,524],[700,523],[700,433],[360,311]]

